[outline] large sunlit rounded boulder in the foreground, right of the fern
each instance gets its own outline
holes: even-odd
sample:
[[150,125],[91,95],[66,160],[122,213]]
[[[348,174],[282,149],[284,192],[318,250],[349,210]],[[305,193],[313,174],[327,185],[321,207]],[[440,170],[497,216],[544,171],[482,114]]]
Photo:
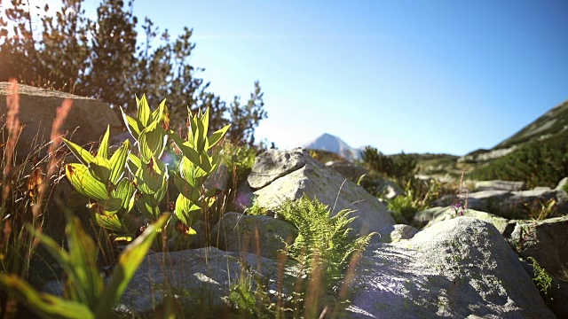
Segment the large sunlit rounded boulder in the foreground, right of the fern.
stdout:
[[489,222],[458,217],[374,244],[351,283],[352,318],[554,318]]

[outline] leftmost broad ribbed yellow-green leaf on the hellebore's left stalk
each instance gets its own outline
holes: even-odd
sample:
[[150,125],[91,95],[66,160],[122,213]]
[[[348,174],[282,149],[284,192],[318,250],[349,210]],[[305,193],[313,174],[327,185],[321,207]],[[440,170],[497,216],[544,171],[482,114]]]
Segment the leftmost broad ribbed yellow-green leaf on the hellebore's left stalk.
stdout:
[[73,185],[75,191],[78,191],[89,198],[98,200],[108,198],[106,185],[95,179],[91,173],[89,173],[89,168],[85,167],[83,164],[67,164],[65,171],[67,179]]

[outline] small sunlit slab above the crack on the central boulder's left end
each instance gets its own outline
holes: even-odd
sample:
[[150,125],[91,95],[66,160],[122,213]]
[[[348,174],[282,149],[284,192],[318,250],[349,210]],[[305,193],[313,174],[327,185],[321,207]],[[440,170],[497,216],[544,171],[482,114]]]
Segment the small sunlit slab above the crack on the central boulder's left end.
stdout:
[[252,171],[248,175],[248,184],[253,189],[261,189],[277,178],[304,167],[304,155],[312,158],[304,154],[301,149],[288,152],[268,150],[262,153],[255,159]]

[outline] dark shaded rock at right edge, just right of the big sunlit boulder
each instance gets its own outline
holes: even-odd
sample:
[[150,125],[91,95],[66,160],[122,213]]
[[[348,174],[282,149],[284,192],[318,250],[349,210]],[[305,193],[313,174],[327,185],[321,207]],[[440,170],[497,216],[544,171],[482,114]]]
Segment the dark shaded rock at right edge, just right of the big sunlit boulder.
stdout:
[[533,257],[550,274],[568,270],[568,215],[544,221],[510,221],[503,234],[524,259]]

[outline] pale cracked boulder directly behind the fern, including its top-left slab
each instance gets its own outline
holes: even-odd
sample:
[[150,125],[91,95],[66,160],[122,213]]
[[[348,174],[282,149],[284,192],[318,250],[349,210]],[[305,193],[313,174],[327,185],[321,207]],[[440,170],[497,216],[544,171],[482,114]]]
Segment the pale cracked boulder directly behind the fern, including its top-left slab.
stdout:
[[248,183],[255,190],[257,205],[266,208],[306,194],[329,206],[332,216],[345,208],[355,210],[351,216],[357,218],[351,227],[359,233],[380,231],[395,223],[377,198],[301,149],[262,153],[255,160]]

